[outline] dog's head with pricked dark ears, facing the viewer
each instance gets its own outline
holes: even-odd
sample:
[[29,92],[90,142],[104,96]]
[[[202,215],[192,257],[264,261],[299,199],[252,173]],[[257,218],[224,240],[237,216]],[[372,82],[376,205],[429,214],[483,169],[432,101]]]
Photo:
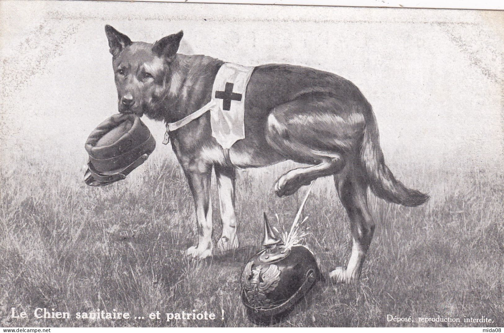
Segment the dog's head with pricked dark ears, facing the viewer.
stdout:
[[119,112],[157,118],[156,106],[169,97],[172,67],[183,32],[154,44],[132,42],[109,25],[105,26],[105,33],[113,56]]

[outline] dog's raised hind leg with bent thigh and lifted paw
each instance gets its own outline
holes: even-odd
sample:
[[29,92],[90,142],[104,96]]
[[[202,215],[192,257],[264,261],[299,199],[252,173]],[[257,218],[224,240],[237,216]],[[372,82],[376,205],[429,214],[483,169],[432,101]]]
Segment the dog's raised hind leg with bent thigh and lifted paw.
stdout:
[[359,106],[320,94],[275,107],[268,117],[268,143],[285,158],[312,164],[280,177],[276,194],[291,195],[314,179],[341,172],[360,147],[365,124],[361,111]]

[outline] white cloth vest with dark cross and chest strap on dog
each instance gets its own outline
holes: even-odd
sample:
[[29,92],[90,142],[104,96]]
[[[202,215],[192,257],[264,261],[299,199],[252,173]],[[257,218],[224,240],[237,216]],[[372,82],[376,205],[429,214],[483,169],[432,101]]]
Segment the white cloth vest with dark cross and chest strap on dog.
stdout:
[[212,88],[212,99],[195,113],[166,125],[164,144],[168,144],[169,132],[175,131],[210,111],[212,136],[224,148],[229,149],[245,138],[245,90],[254,67],[225,63],[217,72]]

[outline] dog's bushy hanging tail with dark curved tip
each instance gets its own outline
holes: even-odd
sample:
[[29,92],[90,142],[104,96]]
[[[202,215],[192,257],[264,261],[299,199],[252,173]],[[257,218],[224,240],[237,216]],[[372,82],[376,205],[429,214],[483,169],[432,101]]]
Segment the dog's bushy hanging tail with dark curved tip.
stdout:
[[376,120],[372,112],[371,118],[366,122],[364,138],[360,149],[360,158],[363,162],[367,183],[373,193],[388,202],[405,206],[418,206],[429,199],[427,194],[412,190],[398,181],[385,164],[380,135]]

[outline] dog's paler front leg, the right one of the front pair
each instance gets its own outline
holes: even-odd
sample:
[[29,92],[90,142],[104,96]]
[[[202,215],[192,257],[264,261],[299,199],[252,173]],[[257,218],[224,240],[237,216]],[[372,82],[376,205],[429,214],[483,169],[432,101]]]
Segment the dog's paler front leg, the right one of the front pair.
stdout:
[[219,208],[222,219],[222,236],[217,241],[217,248],[221,251],[237,249],[236,214],[234,211],[234,186],[236,171],[234,167],[215,165],[215,176],[219,187]]

